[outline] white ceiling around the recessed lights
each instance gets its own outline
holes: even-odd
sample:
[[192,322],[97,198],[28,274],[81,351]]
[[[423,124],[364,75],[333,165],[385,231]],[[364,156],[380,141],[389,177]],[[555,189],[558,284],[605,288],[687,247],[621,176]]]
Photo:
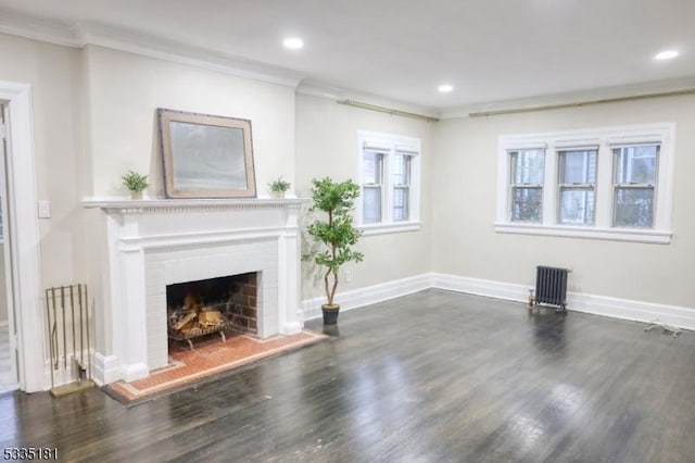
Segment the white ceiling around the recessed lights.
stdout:
[[[695,0],[0,0],[0,32],[195,55],[440,112],[693,79],[694,23]],[[286,50],[289,35],[304,48]],[[680,57],[655,61],[664,49]]]

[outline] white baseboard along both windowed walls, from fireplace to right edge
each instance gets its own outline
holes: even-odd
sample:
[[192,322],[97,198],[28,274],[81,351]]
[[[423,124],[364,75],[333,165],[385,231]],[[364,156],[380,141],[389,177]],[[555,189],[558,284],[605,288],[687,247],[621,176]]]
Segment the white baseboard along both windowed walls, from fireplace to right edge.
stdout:
[[[490,279],[468,278],[442,273],[428,273],[390,283],[339,292],[342,310],[352,310],[383,302],[390,299],[422,291],[425,289],[444,289],[467,295],[507,301],[528,302],[529,286]],[[695,308],[657,304],[630,299],[618,299],[584,292],[568,292],[567,309],[571,312],[591,313],[612,318],[649,323],[659,320],[669,325],[695,330]],[[302,302],[304,320],[321,316],[320,306],[325,298],[314,298]]]

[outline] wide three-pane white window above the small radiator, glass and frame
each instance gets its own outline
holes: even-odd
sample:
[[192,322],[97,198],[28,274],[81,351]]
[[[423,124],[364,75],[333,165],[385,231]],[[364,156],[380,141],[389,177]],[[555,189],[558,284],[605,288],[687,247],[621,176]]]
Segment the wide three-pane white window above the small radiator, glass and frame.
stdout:
[[674,124],[500,137],[495,230],[668,243]]

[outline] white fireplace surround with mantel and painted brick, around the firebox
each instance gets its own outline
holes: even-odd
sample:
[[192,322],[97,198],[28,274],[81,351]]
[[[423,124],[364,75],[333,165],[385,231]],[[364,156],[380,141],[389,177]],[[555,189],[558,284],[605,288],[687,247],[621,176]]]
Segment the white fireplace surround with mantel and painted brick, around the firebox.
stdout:
[[167,285],[257,272],[257,336],[299,333],[303,202],[85,201],[101,210],[106,250],[99,259],[94,379],[132,381],[167,365]]

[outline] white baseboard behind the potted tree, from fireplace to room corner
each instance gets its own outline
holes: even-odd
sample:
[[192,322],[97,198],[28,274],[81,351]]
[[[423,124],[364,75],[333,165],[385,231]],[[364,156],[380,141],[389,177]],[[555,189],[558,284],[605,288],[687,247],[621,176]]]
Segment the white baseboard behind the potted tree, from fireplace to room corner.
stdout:
[[[431,288],[430,274],[396,279],[380,285],[368,286],[366,288],[340,291],[336,301],[340,304],[340,310],[346,311],[376,304],[401,296],[412,295]],[[326,303],[326,298],[313,298],[302,301],[302,313],[304,320],[312,320],[321,316],[321,304]]]

